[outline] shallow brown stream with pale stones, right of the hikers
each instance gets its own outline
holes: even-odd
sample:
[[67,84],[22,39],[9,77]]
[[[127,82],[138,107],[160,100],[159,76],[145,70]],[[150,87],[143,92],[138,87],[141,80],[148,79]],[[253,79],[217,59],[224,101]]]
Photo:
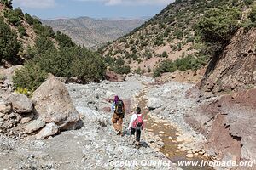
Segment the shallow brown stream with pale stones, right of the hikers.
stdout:
[[[168,159],[170,159],[173,163],[178,161],[198,161],[201,164],[202,160],[200,157],[188,158],[186,155],[188,154],[186,151],[180,151],[178,149],[177,137],[179,132],[177,128],[172,126],[169,122],[164,122],[161,120],[156,120],[156,117],[150,114],[147,107],[147,93],[149,87],[145,85],[140,94],[137,94],[138,105],[142,108],[143,113],[145,113],[145,122],[146,122],[146,131],[153,132],[155,136],[159,136],[162,142],[165,144],[160,152],[166,155]],[[212,167],[181,167],[183,170],[212,170]]]

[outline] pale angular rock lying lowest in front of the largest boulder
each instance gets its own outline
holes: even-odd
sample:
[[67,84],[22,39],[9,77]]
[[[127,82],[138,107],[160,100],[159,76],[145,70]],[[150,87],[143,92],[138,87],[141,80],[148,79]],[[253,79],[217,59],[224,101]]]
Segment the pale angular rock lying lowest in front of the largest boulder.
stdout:
[[48,123],[46,126],[40,130],[37,134],[36,139],[46,139],[49,136],[55,135],[59,132],[59,127],[54,123]]

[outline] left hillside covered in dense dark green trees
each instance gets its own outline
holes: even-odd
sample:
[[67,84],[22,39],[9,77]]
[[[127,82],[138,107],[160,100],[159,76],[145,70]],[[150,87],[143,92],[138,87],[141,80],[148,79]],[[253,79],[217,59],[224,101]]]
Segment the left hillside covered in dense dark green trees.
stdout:
[[104,77],[102,57],[77,46],[70,37],[54,32],[11,1],[0,3],[0,61],[4,67],[24,65],[15,71],[15,88],[32,91],[48,73],[56,77],[77,77],[79,82],[99,81]]

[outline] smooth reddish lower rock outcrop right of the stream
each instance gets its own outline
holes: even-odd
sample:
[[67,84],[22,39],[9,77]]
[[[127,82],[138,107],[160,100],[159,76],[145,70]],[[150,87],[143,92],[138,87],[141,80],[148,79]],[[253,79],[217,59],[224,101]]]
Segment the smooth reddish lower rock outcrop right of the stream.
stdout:
[[208,154],[218,161],[256,160],[256,89],[224,95],[201,104],[186,121],[207,137]]

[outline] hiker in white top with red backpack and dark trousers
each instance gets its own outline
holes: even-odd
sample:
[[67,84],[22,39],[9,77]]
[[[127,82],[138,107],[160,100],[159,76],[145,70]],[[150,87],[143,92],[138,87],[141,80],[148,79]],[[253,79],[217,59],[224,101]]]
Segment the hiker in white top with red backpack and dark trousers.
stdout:
[[139,147],[140,144],[140,139],[141,139],[141,133],[144,128],[144,121],[143,121],[143,114],[141,113],[141,108],[137,107],[136,113],[134,113],[131,116],[131,121],[129,123],[129,127],[127,130],[131,130],[131,135],[135,135],[136,133],[136,145],[137,148]]

